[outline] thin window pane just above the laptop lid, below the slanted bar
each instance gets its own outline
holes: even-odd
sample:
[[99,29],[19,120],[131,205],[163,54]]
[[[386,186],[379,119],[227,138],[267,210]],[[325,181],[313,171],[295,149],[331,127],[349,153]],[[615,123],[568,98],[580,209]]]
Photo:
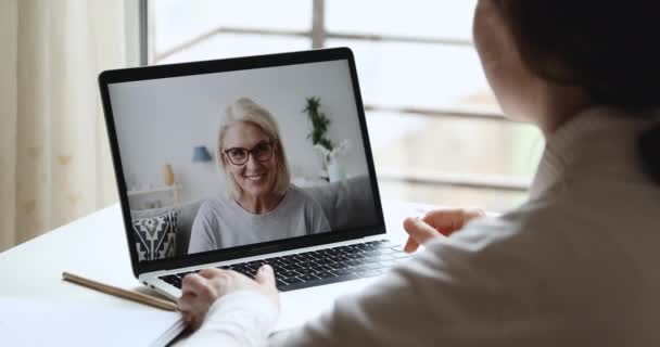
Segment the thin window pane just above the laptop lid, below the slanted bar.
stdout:
[[202,61],[241,55],[279,53],[309,49],[312,40],[303,37],[261,35],[218,35],[181,52],[157,60],[158,64]]

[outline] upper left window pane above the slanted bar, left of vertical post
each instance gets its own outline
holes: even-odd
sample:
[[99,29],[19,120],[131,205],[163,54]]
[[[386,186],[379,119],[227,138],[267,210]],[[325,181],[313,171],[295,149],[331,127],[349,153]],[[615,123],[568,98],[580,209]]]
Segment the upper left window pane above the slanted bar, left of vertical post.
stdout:
[[312,0],[151,0],[155,51],[163,52],[218,26],[309,30]]

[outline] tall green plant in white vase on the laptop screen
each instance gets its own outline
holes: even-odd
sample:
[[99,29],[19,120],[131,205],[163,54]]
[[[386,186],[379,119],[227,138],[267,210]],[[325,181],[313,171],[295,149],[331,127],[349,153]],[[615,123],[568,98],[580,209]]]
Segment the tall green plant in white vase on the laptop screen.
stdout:
[[328,139],[328,128],[331,120],[320,110],[321,100],[319,97],[307,98],[307,105],[303,113],[307,114],[312,123],[312,132],[307,134],[307,139],[312,140],[312,144],[318,151],[323,159],[323,179],[334,182],[346,177],[343,168],[338,162],[339,155],[348,147],[348,141],[342,140],[340,143],[334,143]]

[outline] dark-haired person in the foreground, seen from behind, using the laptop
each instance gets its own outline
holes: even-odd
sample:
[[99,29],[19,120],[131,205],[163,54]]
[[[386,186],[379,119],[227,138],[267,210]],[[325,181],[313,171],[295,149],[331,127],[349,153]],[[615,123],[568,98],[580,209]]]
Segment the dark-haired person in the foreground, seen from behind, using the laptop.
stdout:
[[480,0],[488,82],[546,138],[529,201],[497,218],[407,219],[406,248],[423,252],[268,340],[271,268],[188,275],[179,306],[204,320],[190,345],[660,346],[659,13],[652,0]]

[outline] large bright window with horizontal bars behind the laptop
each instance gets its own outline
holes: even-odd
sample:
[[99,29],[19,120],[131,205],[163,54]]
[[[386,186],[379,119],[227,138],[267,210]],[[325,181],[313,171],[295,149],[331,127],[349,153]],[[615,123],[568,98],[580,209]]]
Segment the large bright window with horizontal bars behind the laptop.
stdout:
[[[471,42],[474,0],[158,0],[150,64],[346,46],[383,198],[505,210],[543,150],[502,116]],[[285,9],[283,9],[285,8]]]

